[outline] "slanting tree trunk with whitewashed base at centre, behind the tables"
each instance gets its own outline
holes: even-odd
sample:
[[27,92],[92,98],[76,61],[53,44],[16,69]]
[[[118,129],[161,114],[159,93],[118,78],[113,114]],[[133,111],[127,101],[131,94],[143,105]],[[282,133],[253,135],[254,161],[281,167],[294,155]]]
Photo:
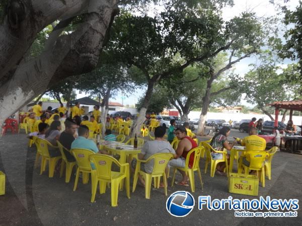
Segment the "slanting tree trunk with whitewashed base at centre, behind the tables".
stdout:
[[139,116],[137,117],[137,120],[133,124],[132,131],[131,131],[131,137],[134,137],[135,134],[136,134],[136,136],[140,136],[140,127],[143,124],[143,122],[145,121],[145,115],[146,115],[146,111],[148,108],[150,98],[153,93],[154,83],[155,82],[153,80],[148,81],[148,88],[147,88],[142,106],[139,110]]

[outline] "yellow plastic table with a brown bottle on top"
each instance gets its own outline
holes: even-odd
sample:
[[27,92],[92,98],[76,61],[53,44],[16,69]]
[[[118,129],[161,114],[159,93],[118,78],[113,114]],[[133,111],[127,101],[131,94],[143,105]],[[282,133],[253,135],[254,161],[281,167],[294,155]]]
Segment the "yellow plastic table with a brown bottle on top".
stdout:
[[[100,141],[99,148],[100,150],[105,149],[106,151],[112,152],[112,154],[120,155],[120,164],[126,163],[127,156],[129,161],[131,162],[133,157],[137,156],[137,154],[141,152],[141,149],[139,148],[134,148],[132,145],[125,145],[124,143],[117,141]],[[124,170],[125,167],[122,167],[121,169]],[[123,184],[123,182],[120,183],[120,189],[123,189]]]

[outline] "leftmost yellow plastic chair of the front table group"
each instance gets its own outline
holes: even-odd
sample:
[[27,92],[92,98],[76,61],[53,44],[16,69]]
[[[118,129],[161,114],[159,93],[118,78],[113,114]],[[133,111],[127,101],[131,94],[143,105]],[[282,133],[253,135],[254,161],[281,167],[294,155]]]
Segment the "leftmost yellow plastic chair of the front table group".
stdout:
[[48,161],[48,177],[53,177],[55,165],[57,161],[62,158],[62,156],[50,157],[48,147],[55,149],[57,149],[58,147],[53,146],[47,140],[40,138],[37,138],[35,142],[37,146],[39,146],[37,147],[37,149],[39,150],[40,155],[42,154],[40,175],[42,175],[42,173],[45,171]]

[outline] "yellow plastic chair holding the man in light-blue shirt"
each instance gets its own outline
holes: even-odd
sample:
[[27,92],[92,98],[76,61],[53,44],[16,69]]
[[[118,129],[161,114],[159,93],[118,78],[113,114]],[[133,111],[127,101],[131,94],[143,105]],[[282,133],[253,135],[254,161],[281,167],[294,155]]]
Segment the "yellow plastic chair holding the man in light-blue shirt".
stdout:
[[78,181],[80,172],[83,175],[83,184],[87,184],[89,180],[89,174],[91,173],[91,165],[89,157],[95,154],[93,151],[88,149],[71,149],[70,152],[72,153],[75,161],[77,161],[78,169],[77,173],[75,174],[75,180],[73,185],[73,191],[77,190]]

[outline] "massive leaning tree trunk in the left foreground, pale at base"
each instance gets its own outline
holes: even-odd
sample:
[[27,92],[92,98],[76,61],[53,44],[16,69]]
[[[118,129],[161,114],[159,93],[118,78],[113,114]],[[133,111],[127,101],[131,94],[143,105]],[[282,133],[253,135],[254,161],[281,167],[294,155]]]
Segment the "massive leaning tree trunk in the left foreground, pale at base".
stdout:
[[[41,3],[42,1],[36,2]],[[51,14],[56,14],[56,12],[47,8],[49,5],[52,6],[53,2],[57,4],[63,1],[47,1],[49,4],[44,3],[45,7],[41,4],[43,9],[41,13],[51,12]],[[68,2],[69,4],[70,2],[76,3],[79,1],[65,0],[64,2]],[[110,28],[116,13],[115,6],[116,1],[91,0],[88,13],[84,15],[85,22],[78,25],[76,31],[69,35],[58,36],[61,30],[54,30],[50,34],[47,44],[51,48],[47,48],[39,57],[30,62],[21,61],[15,72],[6,77],[6,79],[1,80],[0,105],[2,107],[0,109],[0,125],[6,118],[31,101],[35,96],[42,93],[47,88],[51,79],[54,83],[70,75],[91,71],[96,67],[103,43],[107,37],[108,28]],[[72,4],[69,7],[71,9],[74,8]],[[63,8],[66,11],[65,6]],[[60,11],[61,9],[57,10]],[[63,13],[64,11],[62,11],[61,15]],[[57,18],[58,16],[54,19]],[[31,28],[31,26],[28,28]],[[0,31],[2,30],[3,26],[0,27]],[[34,29],[28,30],[33,33],[35,31]],[[3,35],[9,34],[7,32],[0,32],[0,43],[1,45],[7,43],[10,47],[12,44],[8,44],[9,41],[5,40],[5,36]],[[3,46],[6,46],[6,44]],[[3,65],[3,58],[6,58],[5,64],[11,65],[16,64],[16,60],[12,60],[12,58],[18,58],[13,57],[17,50],[13,51],[12,47],[9,47],[2,48],[2,50],[5,49],[4,53],[0,56],[0,66],[3,67],[2,71],[7,70],[7,67]],[[7,49],[13,51],[11,57],[6,56]],[[20,51],[18,53],[20,54]],[[24,51],[22,53],[23,56]],[[20,57],[18,59],[20,60]],[[12,63],[13,61],[14,63]]]

